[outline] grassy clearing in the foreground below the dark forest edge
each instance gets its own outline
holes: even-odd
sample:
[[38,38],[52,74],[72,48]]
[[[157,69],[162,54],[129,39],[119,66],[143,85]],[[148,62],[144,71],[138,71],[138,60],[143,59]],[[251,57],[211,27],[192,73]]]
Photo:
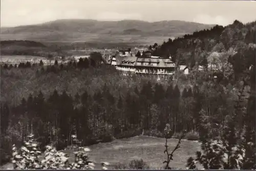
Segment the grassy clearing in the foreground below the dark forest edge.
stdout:
[[[178,139],[169,139],[169,151],[176,146]],[[166,156],[164,152],[164,138],[136,136],[132,138],[118,139],[108,143],[91,145],[90,160],[96,162],[96,168],[100,168],[100,162],[109,162],[114,167],[118,162],[128,164],[134,159],[143,159],[150,168],[159,169],[164,165],[162,162]],[[181,148],[174,153],[174,161],[170,162],[173,168],[186,168],[187,159],[195,156],[200,145],[196,141],[182,140]],[[74,161],[73,150],[64,151],[70,155],[70,161]],[[3,165],[2,168],[10,168],[11,164]],[[109,167],[109,168],[110,168]]]

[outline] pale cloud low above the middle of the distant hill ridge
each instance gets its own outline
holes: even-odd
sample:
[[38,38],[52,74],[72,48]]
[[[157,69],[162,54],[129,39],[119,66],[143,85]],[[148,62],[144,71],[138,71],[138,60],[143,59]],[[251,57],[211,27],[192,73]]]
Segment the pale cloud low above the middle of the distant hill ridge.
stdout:
[[142,19],[138,13],[118,13],[118,12],[102,12],[96,15],[97,20],[123,20],[123,19]]

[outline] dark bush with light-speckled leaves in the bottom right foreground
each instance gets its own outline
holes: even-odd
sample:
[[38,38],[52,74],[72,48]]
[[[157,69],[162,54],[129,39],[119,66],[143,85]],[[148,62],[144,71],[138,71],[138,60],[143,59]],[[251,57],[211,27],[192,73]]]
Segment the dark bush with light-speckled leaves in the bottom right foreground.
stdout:
[[196,153],[197,158],[188,158],[187,168],[197,169],[200,163],[204,169],[241,169],[244,159],[244,149],[238,144],[240,137],[236,135],[235,123],[232,119],[224,125],[222,137],[212,140],[201,139],[201,151]]

